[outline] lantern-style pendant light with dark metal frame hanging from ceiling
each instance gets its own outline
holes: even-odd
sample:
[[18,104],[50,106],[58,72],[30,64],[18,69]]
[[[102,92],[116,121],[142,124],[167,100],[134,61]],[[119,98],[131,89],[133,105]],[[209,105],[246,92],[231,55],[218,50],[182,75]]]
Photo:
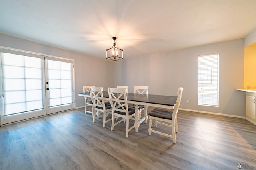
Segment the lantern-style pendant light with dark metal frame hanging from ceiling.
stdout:
[[110,49],[106,50],[106,59],[109,60],[121,60],[123,59],[123,50],[116,47],[116,37],[112,37],[114,44]]

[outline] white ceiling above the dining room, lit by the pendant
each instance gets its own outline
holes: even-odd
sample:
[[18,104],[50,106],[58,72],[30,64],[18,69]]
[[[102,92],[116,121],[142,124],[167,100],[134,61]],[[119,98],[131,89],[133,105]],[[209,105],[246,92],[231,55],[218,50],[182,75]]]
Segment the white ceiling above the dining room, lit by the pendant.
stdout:
[[243,38],[256,0],[0,0],[0,32],[93,57],[124,58]]

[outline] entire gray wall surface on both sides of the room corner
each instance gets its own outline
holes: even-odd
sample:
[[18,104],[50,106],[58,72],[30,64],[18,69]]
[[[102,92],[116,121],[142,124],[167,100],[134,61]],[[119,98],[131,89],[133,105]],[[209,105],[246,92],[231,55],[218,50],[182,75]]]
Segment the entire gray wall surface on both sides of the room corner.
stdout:
[[[178,87],[182,86],[184,94],[180,107],[183,109],[245,116],[245,92],[235,90],[243,87],[244,39],[116,62],[1,33],[0,46],[74,59],[76,107],[84,106],[84,98],[77,95],[84,85],[103,86],[104,90],[129,85],[129,92],[133,92],[135,85],[147,85],[150,94],[168,95],[176,95]],[[212,53],[220,53],[219,107],[198,106],[198,55]],[[190,100],[189,104],[186,104],[186,99]]]

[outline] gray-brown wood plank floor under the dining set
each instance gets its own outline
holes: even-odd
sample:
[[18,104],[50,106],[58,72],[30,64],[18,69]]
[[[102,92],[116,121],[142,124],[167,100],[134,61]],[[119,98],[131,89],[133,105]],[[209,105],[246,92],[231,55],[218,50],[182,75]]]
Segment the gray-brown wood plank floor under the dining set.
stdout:
[[149,136],[148,123],[129,137],[125,127],[120,123],[111,131],[111,122],[92,123],[84,108],[5,125],[0,169],[234,170],[241,162],[256,169],[256,126],[245,119],[179,111],[176,144],[156,133]]

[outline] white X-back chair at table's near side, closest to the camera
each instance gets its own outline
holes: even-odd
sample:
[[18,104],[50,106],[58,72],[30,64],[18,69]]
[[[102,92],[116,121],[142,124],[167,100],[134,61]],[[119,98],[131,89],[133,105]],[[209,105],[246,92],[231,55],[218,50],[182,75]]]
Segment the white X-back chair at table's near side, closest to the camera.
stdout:
[[[128,107],[126,92],[126,88],[108,88],[108,96],[112,107],[111,130],[113,131],[114,126],[126,119],[126,137],[128,137],[129,131],[134,128],[134,125],[129,128],[129,119],[135,115],[135,108]],[[120,98],[123,98],[124,106],[121,104]],[[116,116],[122,119],[115,123]]]

